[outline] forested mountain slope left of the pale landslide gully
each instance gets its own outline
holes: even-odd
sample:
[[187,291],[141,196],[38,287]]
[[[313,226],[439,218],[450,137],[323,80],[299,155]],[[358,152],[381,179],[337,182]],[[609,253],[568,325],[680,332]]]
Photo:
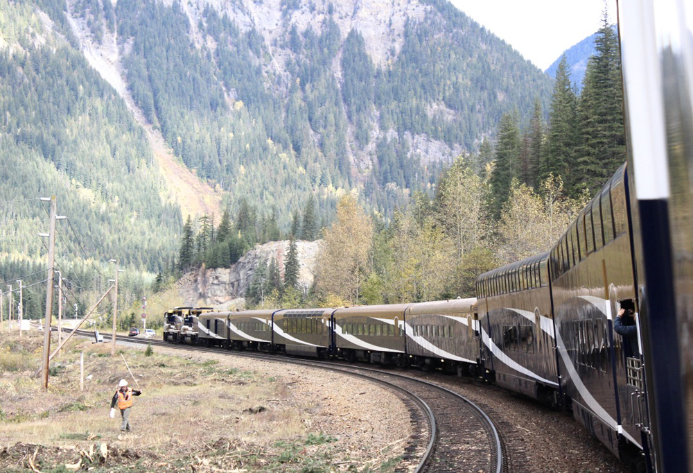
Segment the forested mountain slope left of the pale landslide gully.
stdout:
[[63,26],[26,3],[0,9],[3,263],[42,259],[35,234],[48,225],[45,205],[21,200],[55,195],[69,217],[58,227],[58,265],[118,257],[156,270],[173,255],[182,222],[143,130],[58,33]]

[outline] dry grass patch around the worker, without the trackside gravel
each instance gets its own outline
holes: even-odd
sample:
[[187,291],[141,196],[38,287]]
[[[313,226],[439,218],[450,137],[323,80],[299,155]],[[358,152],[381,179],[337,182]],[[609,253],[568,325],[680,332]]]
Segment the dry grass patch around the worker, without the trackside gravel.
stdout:
[[[335,438],[312,430],[310,417],[320,406],[295,396],[288,378],[166,356],[156,348],[151,356],[137,348],[119,350],[143,390],[130,415],[133,432],[121,435],[119,412],[108,417],[110,401],[119,379],[136,385],[119,354],[112,357],[109,345],[90,339],[71,340],[51,363],[46,392],[33,377],[41,347],[40,332],[0,341],[1,471],[30,467],[31,456],[44,472],[65,471],[66,463],[78,460],[96,472],[189,471],[191,465],[195,472],[328,472],[351,465],[336,453]],[[101,444],[111,452],[108,458],[89,460],[89,449],[99,451]]]

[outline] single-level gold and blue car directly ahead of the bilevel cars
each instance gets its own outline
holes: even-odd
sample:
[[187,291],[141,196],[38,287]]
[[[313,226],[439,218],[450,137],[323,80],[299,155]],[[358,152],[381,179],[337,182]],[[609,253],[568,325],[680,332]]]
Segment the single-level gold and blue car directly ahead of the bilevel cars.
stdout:
[[425,370],[476,374],[480,350],[476,298],[412,304],[405,332],[412,364]]

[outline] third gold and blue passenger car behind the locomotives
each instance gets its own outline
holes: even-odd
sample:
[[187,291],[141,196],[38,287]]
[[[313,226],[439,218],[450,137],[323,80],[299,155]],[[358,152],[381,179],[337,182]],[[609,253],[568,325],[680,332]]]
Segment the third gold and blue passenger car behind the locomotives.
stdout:
[[282,309],[272,315],[274,350],[323,358],[330,348],[334,309]]

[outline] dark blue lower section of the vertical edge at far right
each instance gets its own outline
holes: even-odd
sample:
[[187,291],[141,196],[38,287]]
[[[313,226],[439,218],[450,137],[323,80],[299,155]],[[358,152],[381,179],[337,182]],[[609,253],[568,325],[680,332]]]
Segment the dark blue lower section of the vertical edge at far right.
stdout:
[[646,310],[649,347],[645,362],[652,379],[650,410],[656,429],[658,464],[667,473],[688,472],[681,385],[680,347],[676,334],[676,304],[669,212],[666,200],[638,200],[645,268],[640,311]]

